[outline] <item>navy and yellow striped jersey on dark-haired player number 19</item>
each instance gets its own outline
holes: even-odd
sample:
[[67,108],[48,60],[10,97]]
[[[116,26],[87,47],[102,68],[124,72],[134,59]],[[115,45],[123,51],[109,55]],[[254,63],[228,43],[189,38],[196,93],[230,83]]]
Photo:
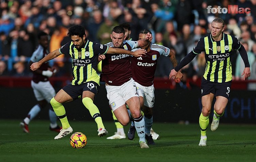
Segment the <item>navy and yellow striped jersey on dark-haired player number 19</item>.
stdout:
[[61,54],[69,54],[72,58],[73,80],[72,85],[79,85],[88,81],[99,84],[99,76],[96,72],[98,55],[106,54],[108,46],[91,42],[86,39],[84,46],[78,50],[72,42],[68,42],[60,48]]

